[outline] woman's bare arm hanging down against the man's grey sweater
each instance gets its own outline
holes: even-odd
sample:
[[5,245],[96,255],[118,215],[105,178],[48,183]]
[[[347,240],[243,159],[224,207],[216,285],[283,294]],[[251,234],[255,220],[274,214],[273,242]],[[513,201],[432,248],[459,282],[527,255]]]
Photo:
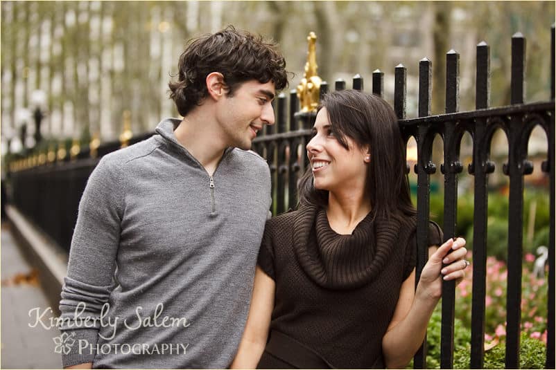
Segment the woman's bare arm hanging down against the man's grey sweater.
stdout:
[[231,369],[255,369],[266,346],[274,308],[275,282],[257,266],[251,308]]

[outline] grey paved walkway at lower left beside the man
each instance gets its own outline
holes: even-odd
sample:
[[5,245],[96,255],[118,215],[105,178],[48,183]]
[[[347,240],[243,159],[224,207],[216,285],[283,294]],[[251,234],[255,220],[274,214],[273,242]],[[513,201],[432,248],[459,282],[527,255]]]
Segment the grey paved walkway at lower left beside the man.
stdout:
[[[62,360],[54,352],[58,329],[34,328],[36,313],[50,307],[39,286],[33,266],[24,259],[7,225],[1,227],[1,361],[2,369],[61,369]],[[30,317],[29,311],[34,313]],[[54,317],[49,311],[42,317]]]

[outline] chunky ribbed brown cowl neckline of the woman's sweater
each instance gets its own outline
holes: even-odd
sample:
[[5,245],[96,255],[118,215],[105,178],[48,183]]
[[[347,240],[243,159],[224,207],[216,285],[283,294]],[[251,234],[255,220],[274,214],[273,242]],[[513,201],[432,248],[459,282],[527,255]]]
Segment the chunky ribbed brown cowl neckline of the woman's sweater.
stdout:
[[385,268],[400,231],[400,222],[372,212],[351,234],[330,227],[322,207],[305,205],[293,225],[295,255],[299,265],[319,286],[354,289],[369,284]]

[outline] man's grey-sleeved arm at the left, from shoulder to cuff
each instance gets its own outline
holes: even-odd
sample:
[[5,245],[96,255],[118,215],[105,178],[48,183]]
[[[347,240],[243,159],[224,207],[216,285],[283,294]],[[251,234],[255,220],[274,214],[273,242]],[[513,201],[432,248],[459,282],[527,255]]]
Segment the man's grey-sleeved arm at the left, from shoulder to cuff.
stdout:
[[[96,326],[84,327],[83,319],[100,317],[103,304],[112,291],[123,214],[119,176],[115,161],[104,157],[89,176],[79,203],[60,300],[60,330],[71,335],[76,343],[69,353],[62,354],[64,367],[81,364],[90,368],[96,355],[89,348],[96,346],[99,321],[94,322]],[[83,341],[86,341],[87,351],[79,353]]]

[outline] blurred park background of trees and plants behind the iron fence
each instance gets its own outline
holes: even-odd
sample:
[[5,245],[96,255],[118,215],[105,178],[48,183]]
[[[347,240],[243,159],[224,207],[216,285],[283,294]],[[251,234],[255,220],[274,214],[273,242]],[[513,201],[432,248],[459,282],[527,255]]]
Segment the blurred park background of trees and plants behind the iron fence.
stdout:
[[[349,88],[351,77],[359,73],[367,79],[365,91],[370,91],[372,72],[379,69],[384,73],[384,97],[392,104],[394,67],[403,64],[407,68],[407,117],[413,118],[417,116],[419,59],[424,57],[433,62],[432,113],[444,112],[445,60],[451,49],[460,53],[460,111],[475,109],[476,45],[480,41],[490,46],[490,106],[510,104],[511,38],[517,32],[527,39],[525,102],[550,100],[554,19],[553,1],[2,1],[2,178],[9,178],[6,164],[12,159],[43,154],[35,160],[35,165],[41,165],[51,161],[52,149],[61,145],[68,151],[77,145],[79,151],[96,141],[98,147],[99,142],[118,142],[124,132],[148,133],[162,118],[177,117],[168,99],[168,82],[177,73],[186,41],[229,24],[279,42],[287,68],[294,73],[290,89],[303,77],[306,37],[311,31],[318,37],[318,75],[329,84],[343,79]],[[532,269],[541,257],[537,248],[548,245],[549,225],[554,222],[548,207],[548,176],[541,172],[547,152],[546,134],[537,127],[528,149],[535,169],[525,176],[527,270],[523,286],[524,291],[528,289],[528,306],[522,308],[522,330],[526,340],[539,343],[546,342],[546,284],[544,278],[532,275]],[[60,156],[59,150],[53,153]],[[471,156],[472,141],[466,133],[460,159],[464,169]],[[487,302],[491,303],[487,304],[486,335],[491,349],[501,348],[496,344],[503,343],[505,334],[509,179],[502,167],[507,157],[507,139],[499,131],[491,150],[496,171],[489,175],[487,252],[493,259],[489,260],[489,279],[496,279],[487,281]],[[411,139],[408,163],[415,159],[415,140]],[[433,161],[442,163],[440,138],[435,140]],[[410,172],[409,176],[415,194],[417,175]],[[431,176],[431,218],[441,225],[443,181],[440,171]],[[458,234],[467,237],[472,249],[474,176],[464,170],[458,186]],[[60,215],[52,216],[55,220]],[[456,317],[461,318],[462,328],[469,328],[470,286],[471,280],[458,288]],[[469,344],[465,335],[460,332],[461,346],[456,342],[456,351],[461,349],[461,353]],[[531,346],[525,349],[533,353]],[[503,361],[503,353],[498,357]],[[458,359],[455,366],[468,366],[468,358]],[[525,364],[538,365],[534,360]]]

